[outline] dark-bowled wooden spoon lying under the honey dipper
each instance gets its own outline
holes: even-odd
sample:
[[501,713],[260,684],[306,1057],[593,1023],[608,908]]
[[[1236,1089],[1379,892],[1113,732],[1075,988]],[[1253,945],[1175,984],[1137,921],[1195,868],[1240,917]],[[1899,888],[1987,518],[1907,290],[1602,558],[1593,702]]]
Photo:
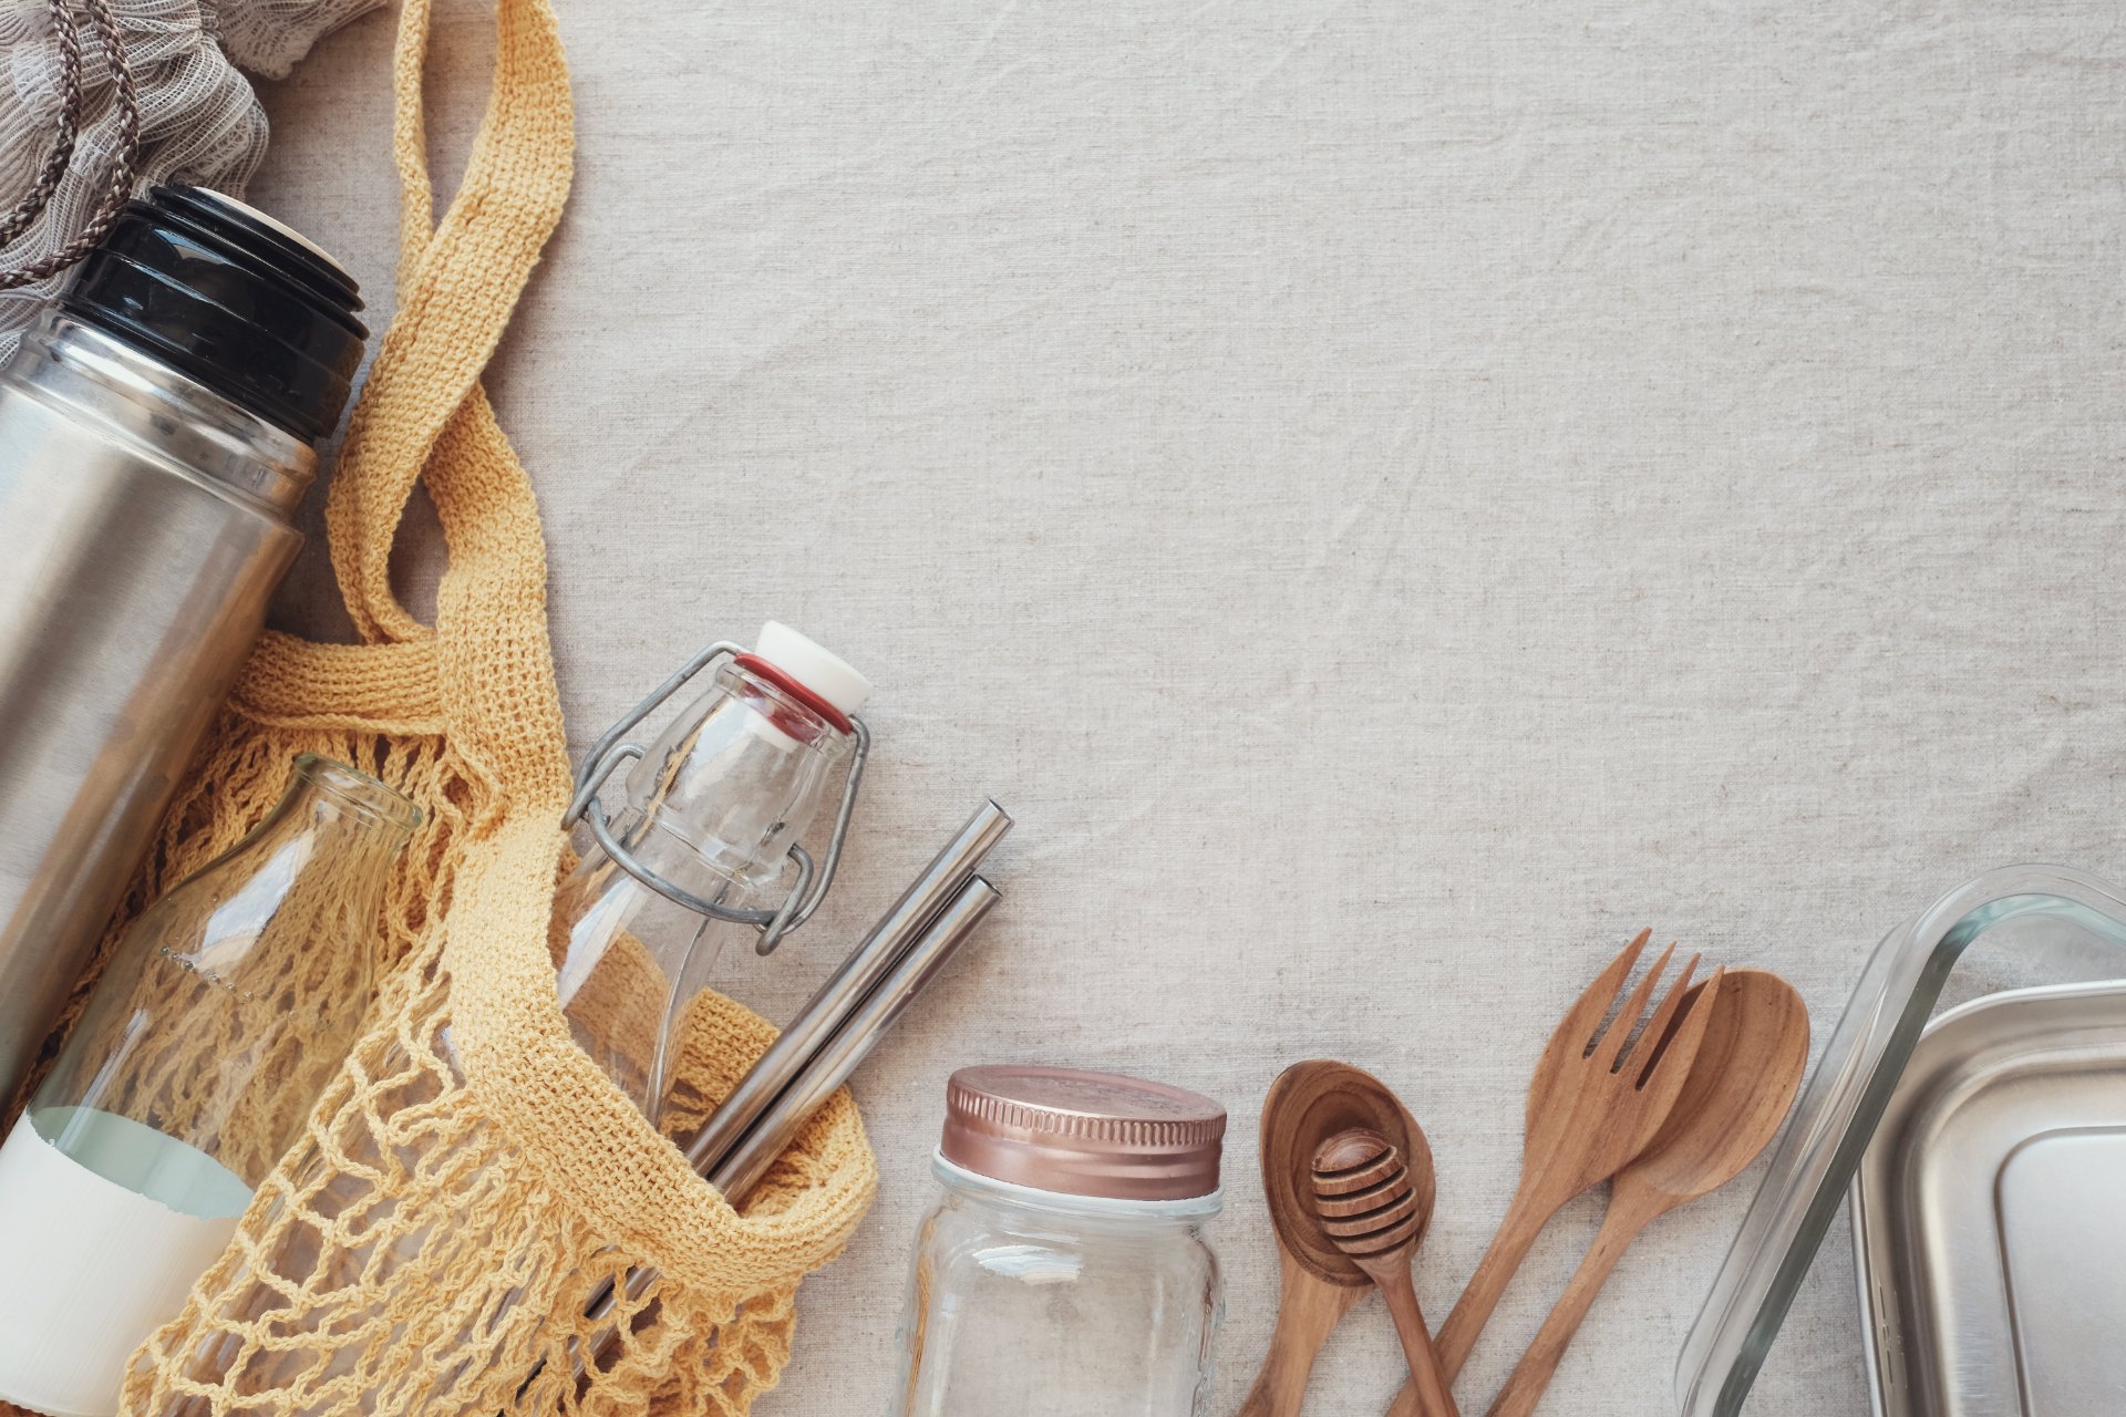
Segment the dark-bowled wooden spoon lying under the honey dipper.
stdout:
[[1412,1162],[1412,1190],[1433,1209],[1433,1154],[1424,1132],[1386,1083],[1344,1062],[1295,1062],[1263,1098],[1263,1194],[1278,1232],[1278,1328],[1269,1336],[1263,1370],[1239,1417],[1299,1417],[1314,1355],[1352,1304],[1373,1287],[1359,1264],[1339,1251],[1314,1215],[1314,1154],[1322,1143],[1363,1126],[1386,1137]]

